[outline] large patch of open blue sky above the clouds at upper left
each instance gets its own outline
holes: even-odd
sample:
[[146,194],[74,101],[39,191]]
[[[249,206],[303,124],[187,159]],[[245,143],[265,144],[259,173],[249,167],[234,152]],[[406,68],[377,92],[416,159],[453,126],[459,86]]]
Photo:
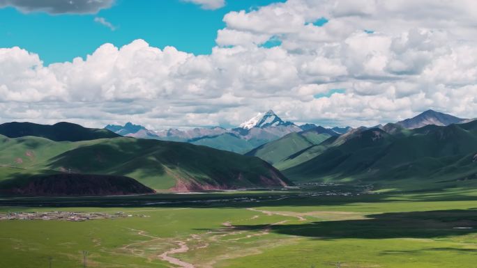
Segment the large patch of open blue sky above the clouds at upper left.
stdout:
[[[139,3],[140,2],[140,3]],[[71,61],[111,42],[122,46],[144,39],[154,47],[171,45],[193,54],[209,54],[222,18],[232,10],[252,10],[277,0],[228,0],[204,10],[181,0],[119,0],[96,15],[49,15],[0,8],[0,47],[18,46],[40,55],[45,64]],[[139,3],[139,4],[138,4]],[[115,31],[94,22],[103,17]]]

